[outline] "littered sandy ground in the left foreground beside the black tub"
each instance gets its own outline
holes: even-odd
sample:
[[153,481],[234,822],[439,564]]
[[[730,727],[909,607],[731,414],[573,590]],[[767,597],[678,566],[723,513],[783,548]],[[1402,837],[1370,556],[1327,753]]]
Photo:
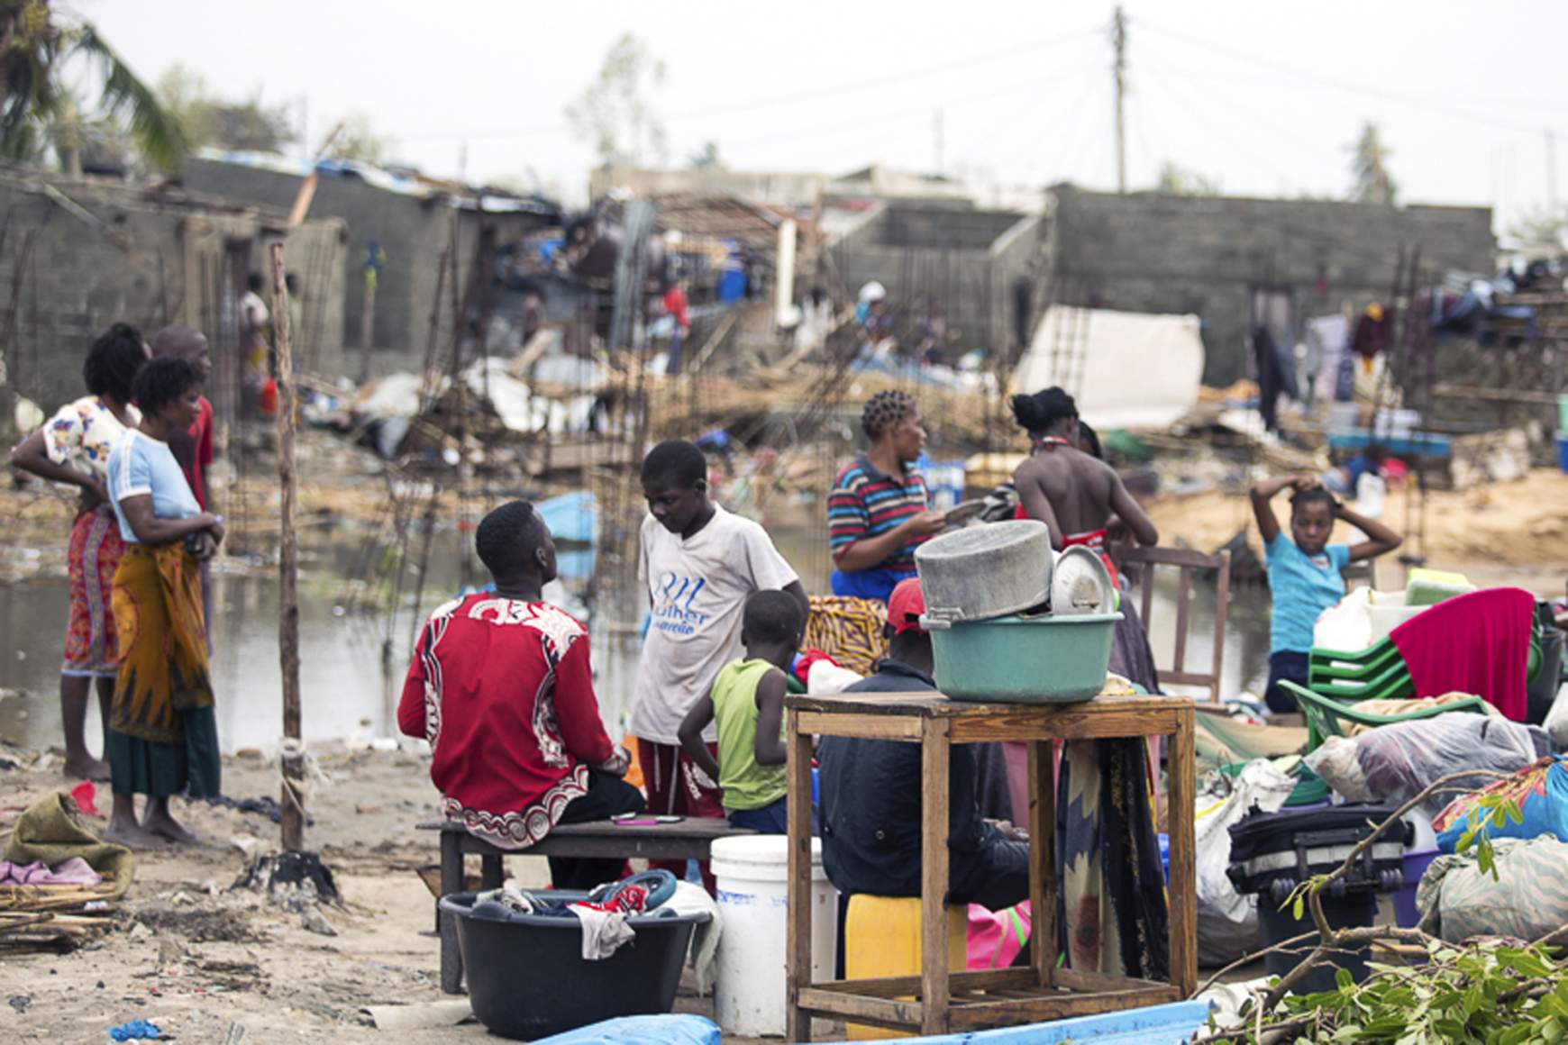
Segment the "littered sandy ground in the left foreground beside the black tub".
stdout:
[[[0,832],[17,807],[67,788],[58,758],[36,769],[0,771]],[[332,779],[310,799],[307,844],[337,877],[343,907],[325,907],[339,935],[303,927],[299,915],[234,888],[241,846],[274,849],[278,827],[257,813],[176,801],[176,816],[202,840],[144,854],[118,904],[119,927],[74,953],[0,946],[0,1036],[8,1042],[103,1042],[110,1026],[144,1017],[182,1042],[497,1040],[467,1023],[389,1034],[364,1007],[445,998],[433,901],[416,868],[437,862],[436,840],[412,830],[434,813],[426,761],[401,752],[320,755]],[[224,761],[224,793],[276,794],[278,771],[259,758]],[[107,790],[99,791],[107,812]],[[100,827],[105,821],[96,821]],[[543,857],[513,857],[528,885],[549,880]],[[682,989],[677,1011],[712,1014],[710,1000]],[[745,1039],[728,1039],[745,1040]]]

